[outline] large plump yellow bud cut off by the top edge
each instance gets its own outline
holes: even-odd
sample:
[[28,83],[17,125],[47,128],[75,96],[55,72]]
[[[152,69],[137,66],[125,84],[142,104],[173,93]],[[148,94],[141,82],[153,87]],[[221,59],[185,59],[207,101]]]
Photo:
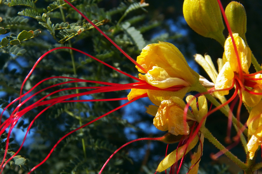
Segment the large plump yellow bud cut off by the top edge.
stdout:
[[224,24],[217,0],[185,0],[183,13],[187,24],[198,34],[224,44]]

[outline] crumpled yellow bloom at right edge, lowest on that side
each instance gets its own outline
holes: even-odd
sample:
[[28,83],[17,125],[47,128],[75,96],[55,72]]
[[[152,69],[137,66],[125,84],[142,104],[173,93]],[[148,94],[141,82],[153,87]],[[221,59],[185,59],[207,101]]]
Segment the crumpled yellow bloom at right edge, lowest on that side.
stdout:
[[256,150],[262,142],[262,101],[260,101],[253,109],[250,111],[250,115],[247,121],[248,134],[251,138],[247,144],[249,151],[249,158],[253,159]]

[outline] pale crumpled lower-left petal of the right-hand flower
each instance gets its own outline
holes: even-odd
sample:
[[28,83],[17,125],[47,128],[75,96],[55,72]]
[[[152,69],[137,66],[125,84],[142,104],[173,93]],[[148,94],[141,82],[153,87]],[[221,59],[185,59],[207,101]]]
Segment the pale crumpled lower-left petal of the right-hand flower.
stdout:
[[[229,62],[226,62],[219,72],[215,84],[215,89],[227,89],[232,85],[232,79],[234,78],[234,71],[231,69]],[[218,91],[222,96],[227,95],[229,90]]]

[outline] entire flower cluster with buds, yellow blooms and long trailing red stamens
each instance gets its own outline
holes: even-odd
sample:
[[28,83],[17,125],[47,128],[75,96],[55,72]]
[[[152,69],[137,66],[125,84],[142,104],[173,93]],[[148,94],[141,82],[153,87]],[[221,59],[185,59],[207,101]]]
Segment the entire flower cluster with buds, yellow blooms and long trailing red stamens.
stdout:
[[[120,91],[131,89],[126,98],[115,99],[128,99],[129,102],[122,106],[119,106],[116,109],[113,109],[112,111],[98,117],[97,119],[83,126],[87,126],[92,122],[102,118],[103,116],[110,114],[113,111],[139,98],[148,97],[153,105],[148,106],[146,112],[154,116],[154,119],[152,121],[154,126],[161,131],[168,131],[168,133],[166,133],[163,138],[156,138],[154,140],[163,141],[165,143],[174,143],[175,141],[171,141],[170,137],[171,139],[180,139],[177,149],[165,156],[165,158],[160,162],[158,168],[156,169],[157,172],[164,171],[175,163],[178,164],[179,160],[181,159],[181,163],[177,168],[179,170],[185,155],[198,144],[197,152],[193,153],[192,155],[191,166],[188,172],[191,174],[197,174],[199,162],[203,154],[204,138],[207,138],[220,150],[220,152],[218,152],[218,155],[227,155],[229,159],[234,161],[246,173],[258,169],[258,165],[253,165],[254,161],[252,162],[251,160],[255,160],[254,157],[256,155],[256,152],[259,148],[259,145],[262,143],[262,74],[260,74],[262,72],[262,68],[259,66],[256,59],[254,58],[254,55],[252,54],[251,49],[249,48],[245,38],[247,25],[245,9],[240,3],[231,2],[228,4],[224,12],[220,0],[185,0],[183,5],[183,13],[186,22],[194,31],[204,37],[215,39],[224,48],[224,53],[221,53],[221,55],[217,55],[216,57],[222,57],[222,59],[217,59],[218,70],[215,68],[212,58],[209,55],[206,54],[204,57],[200,54],[195,55],[195,60],[207,72],[212,82],[209,82],[205,77],[192,70],[187,64],[187,61],[180,50],[173,44],[167,42],[149,44],[142,49],[141,54],[137,57],[137,61],[134,62],[136,68],[141,73],[138,75],[139,78],[127,75],[127,73],[120,71],[117,68],[113,68],[112,66],[107,65],[106,63],[103,63],[102,61],[86,53],[83,53],[80,50],[63,47],[74,49],[83,54],[86,54],[89,57],[103,63],[104,65],[107,65],[110,68],[122,74],[125,74],[139,82],[116,84],[109,82],[96,82],[68,78],[74,80],[71,82],[90,82],[99,83],[101,85],[107,86],[97,88],[86,87],[86,89],[92,89],[93,91],[88,91],[76,95],[57,97],[47,101],[43,101],[43,99],[49,97],[52,94],[51,93],[50,95],[45,96],[43,99],[38,100],[34,104],[25,109],[22,109],[21,111],[19,111],[20,106],[18,106],[14,109],[10,118],[7,119],[7,121],[5,121],[3,124],[1,124],[1,127],[3,128],[0,130],[0,133],[2,134],[5,129],[8,128],[8,126],[11,126],[8,132],[8,135],[10,136],[10,132],[17,123],[17,120],[22,115],[27,113],[27,111],[35,107],[50,104],[46,107],[46,109],[48,109],[56,103],[68,102],[68,100],[66,99],[69,99],[71,97],[77,97],[98,92],[111,92],[117,90]],[[82,13],[80,14],[83,15]],[[83,17],[85,16],[83,15]],[[229,31],[229,36],[227,38],[225,38],[223,35],[223,30],[225,28],[223,24],[223,18],[225,20],[225,23],[227,24],[227,29]],[[93,25],[93,23],[89,19],[87,19],[86,17],[85,19]],[[96,25],[93,26],[98,31],[100,31]],[[234,33],[232,33],[232,31]],[[106,35],[104,34],[104,36]],[[121,52],[123,52],[123,50],[118,47],[113,41],[112,43]],[[126,53],[124,54],[128,57]],[[134,61],[132,58],[128,58]],[[251,63],[254,65],[257,72],[249,72]],[[30,76],[30,73],[28,77]],[[76,87],[76,89],[78,88]],[[230,95],[230,91],[234,91],[232,96]],[[197,92],[197,94],[193,96],[190,95],[190,92]],[[20,98],[15,99],[14,102],[20,100],[25,95],[22,95],[20,96]],[[233,115],[233,109],[236,102],[232,101],[236,101],[238,97],[239,104],[235,117]],[[30,98],[32,98],[32,96]],[[107,101],[112,100],[113,99]],[[232,102],[233,104],[229,107],[230,102]],[[240,122],[242,104],[245,105],[249,112],[248,120],[244,125]],[[212,105],[214,105],[215,107],[208,111],[208,105],[210,108],[212,108]],[[211,132],[209,132],[209,130],[205,126],[207,117],[217,110],[220,110],[225,116],[228,117],[228,132],[231,131],[230,129],[232,122],[237,132],[237,135],[235,136],[235,144],[233,143],[227,148],[224,147],[215,137],[213,137]],[[38,114],[35,119],[40,114]],[[30,124],[28,130],[31,126],[32,124]],[[83,126],[71,131],[70,133],[79,130]],[[62,137],[57,142],[57,144],[70,133]],[[227,135],[227,138],[231,140],[230,134]],[[9,139],[9,137],[7,139]],[[241,141],[241,143],[243,144],[244,151],[248,156],[247,163],[242,162],[229,151],[230,148],[235,146],[239,141]],[[228,142],[230,143],[230,141]],[[57,144],[55,144],[54,148]],[[54,150],[54,148],[52,150]],[[6,151],[7,150],[8,149],[6,147]],[[17,153],[19,152],[19,150],[17,151]],[[52,150],[50,154],[52,153]],[[15,153],[14,155],[16,155],[17,153]],[[7,152],[5,152],[4,154],[4,158],[1,164],[2,167],[4,167],[6,163],[14,157],[13,155],[12,158],[4,161],[4,159],[6,158],[6,154]],[[40,163],[39,165],[41,165],[42,163]],[[31,171],[33,170],[34,169],[32,169]]]

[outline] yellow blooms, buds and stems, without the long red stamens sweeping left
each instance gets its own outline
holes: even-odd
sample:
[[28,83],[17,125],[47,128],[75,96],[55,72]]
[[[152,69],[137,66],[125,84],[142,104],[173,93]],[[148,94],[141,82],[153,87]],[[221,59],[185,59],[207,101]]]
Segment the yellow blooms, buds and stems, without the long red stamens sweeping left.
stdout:
[[[217,0],[185,0],[183,12],[188,25],[198,34],[221,43],[224,53],[221,55],[222,59],[218,59],[218,71],[210,56],[205,55],[204,58],[200,54],[195,55],[196,61],[205,69],[213,83],[193,71],[181,52],[171,43],[149,44],[137,57],[137,63],[147,71],[137,67],[139,72],[144,73],[144,75],[139,74],[139,78],[159,89],[134,88],[129,93],[128,99],[131,100],[147,93],[154,104],[147,108],[147,112],[154,116],[155,127],[161,131],[168,131],[174,136],[183,135],[182,139],[187,142],[180,144],[177,150],[167,155],[156,171],[166,170],[174,162],[183,158],[188,150],[197,144],[196,135],[199,137],[200,144],[197,153],[193,155],[190,173],[197,173],[203,151],[203,137],[220,147],[223,153],[246,170],[249,164],[244,164],[232,155],[221,143],[214,140],[205,128],[207,116],[216,110],[221,110],[229,117],[229,120],[233,121],[238,132],[237,139],[238,141],[240,139],[247,149],[250,160],[254,158],[262,142],[262,75],[259,72],[251,74],[249,72],[251,62],[254,65],[257,63],[245,38],[244,7],[240,3],[231,2],[225,13],[222,10],[221,2]],[[221,12],[229,31],[227,39],[223,35],[224,24]],[[230,27],[234,30],[231,30]],[[257,71],[261,70],[260,66],[255,66],[255,68]],[[226,99],[225,96],[233,88],[235,88],[233,96]],[[200,97],[196,99],[194,96],[187,96],[186,93],[190,91],[199,92]],[[237,96],[240,98],[238,119],[232,116],[233,107],[230,110],[228,106]],[[186,97],[187,104],[183,100],[184,97]],[[216,106],[209,112],[206,98]],[[242,102],[250,113],[247,120],[248,129],[239,121]],[[189,106],[191,106],[191,111],[188,109]],[[230,121],[229,123],[231,124]],[[246,140],[243,134],[248,135],[249,139]],[[227,138],[230,139],[230,136]]]

